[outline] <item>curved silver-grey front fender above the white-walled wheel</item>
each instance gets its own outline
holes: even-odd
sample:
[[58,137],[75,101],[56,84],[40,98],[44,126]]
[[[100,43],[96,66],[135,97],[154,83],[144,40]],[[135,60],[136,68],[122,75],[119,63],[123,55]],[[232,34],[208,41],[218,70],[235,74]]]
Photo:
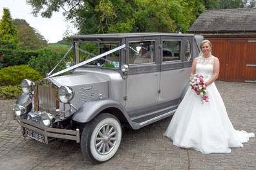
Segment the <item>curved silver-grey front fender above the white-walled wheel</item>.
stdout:
[[81,106],[76,113],[74,113],[72,119],[76,122],[86,123],[96,117],[98,113],[107,108],[117,108],[122,111],[126,120],[131,124],[131,121],[127,115],[127,112],[123,106],[113,99],[104,99],[104,100],[94,100],[91,102],[86,102]]

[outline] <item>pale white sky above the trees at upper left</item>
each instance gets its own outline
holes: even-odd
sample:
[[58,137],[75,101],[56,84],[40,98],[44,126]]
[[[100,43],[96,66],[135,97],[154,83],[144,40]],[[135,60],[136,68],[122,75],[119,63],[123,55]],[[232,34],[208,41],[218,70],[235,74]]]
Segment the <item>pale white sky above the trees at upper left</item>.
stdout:
[[70,22],[65,21],[61,12],[54,13],[50,19],[42,18],[40,15],[34,17],[31,14],[32,8],[27,5],[26,0],[0,0],[0,19],[3,15],[3,8],[10,10],[12,19],[25,19],[30,26],[45,37],[48,43],[60,41],[67,28],[72,34],[77,32]]

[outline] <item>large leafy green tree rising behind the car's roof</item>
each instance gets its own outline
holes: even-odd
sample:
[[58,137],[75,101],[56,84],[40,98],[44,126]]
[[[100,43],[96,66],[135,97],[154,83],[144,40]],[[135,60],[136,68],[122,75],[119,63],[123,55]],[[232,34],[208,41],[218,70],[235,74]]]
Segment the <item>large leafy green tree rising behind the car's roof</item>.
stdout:
[[197,0],[27,0],[32,13],[50,17],[59,8],[80,33],[186,32],[204,10]]

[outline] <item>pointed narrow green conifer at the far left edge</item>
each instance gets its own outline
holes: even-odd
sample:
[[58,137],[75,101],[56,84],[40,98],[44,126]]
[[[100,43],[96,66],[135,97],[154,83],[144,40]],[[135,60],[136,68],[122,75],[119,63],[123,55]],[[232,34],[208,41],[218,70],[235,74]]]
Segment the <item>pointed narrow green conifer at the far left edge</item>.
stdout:
[[3,8],[3,17],[0,21],[0,48],[17,48],[17,29],[7,8]]

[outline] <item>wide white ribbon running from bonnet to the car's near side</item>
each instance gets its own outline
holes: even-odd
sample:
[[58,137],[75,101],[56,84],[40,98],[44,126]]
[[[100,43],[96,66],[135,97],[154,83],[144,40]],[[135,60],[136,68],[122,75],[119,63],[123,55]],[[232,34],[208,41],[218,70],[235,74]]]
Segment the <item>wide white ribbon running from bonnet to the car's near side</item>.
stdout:
[[118,46],[118,47],[116,47],[116,48],[114,48],[114,49],[112,49],[112,50],[109,50],[109,51],[107,51],[107,52],[105,52],[105,53],[101,53],[100,55],[97,55],[97,56],[95,56],[95,57],[92,57],[91,59],[88,59],[87,61],[80,62],[80,63],[78,63],[78,64],[76,64],[76,65],[74,65],[74,66],[71,66],[70,68],[66,68],[66,69],[64,69],[64,70],[58,71],[57,73],[54,73],[53,75],[49,75],[47,78],[54,77],[54,76],[56,76],[56,75],[60,75],[60,74],[62,74],[62,73],[65,73],[65,72],[67,72],[67,71],[70,71],[70,70],[74,70],[75,68],[78,68],[78,67],[80,67],[80,66],[83,66],[84,64],[87,64],[87,63],[89,63],[89,62],[95,61],[96,59],[100,59],[101,57],[104,57],[104,56],[106,56],[106,55],[109,55],[110,53],[116,52],[116,51],[121,50],[121,49],[123,49],[123,48],[125,48],[125,44],[123,44],[122,46]]

